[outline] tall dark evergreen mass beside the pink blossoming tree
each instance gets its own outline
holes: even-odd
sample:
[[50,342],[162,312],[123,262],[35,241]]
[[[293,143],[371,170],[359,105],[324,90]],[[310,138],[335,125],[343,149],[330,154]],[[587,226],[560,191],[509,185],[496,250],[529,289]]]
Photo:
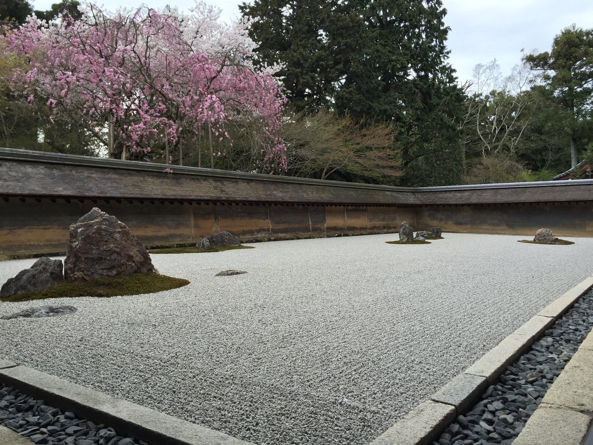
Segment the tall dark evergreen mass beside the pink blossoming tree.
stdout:
[[[464,93],[447,63],[441,0],[255,0],[250,37],[292,109],[389,123],[407,185],[461,181]],[[438,167],[438,168],[437,168]]]

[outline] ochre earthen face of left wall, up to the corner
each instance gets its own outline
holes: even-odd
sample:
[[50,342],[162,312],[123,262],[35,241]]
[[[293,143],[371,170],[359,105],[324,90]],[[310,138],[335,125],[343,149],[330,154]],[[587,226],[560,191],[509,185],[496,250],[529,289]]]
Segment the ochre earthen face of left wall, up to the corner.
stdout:
[[396,207],[8,198],[0,200],[0,256],[65,252],[69,225],[94,206],[124,222],[146,246],[195,243],[222,230],[243,238],[334,236],[397,231],[402,221],[414,221],[414,209]]

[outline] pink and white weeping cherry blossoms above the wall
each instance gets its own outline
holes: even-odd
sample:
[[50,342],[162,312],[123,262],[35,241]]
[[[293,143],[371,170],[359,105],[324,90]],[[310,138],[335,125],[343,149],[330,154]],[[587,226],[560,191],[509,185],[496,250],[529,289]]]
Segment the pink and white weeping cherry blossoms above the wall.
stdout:
[[253,68],[244,27],[221,27],[212,9],[192,11],[109,14],[90,5],[79,21],[32,17],[6,29],[0,48],[27,61],[12,72],[15,92],[81,120],[103,140],[111,122],[123,150],[148,152],[164,138],[177,147],[206,132],[222,141],[231,121],[245,120],[261,129],[266,170],[284,170],[278,84]]

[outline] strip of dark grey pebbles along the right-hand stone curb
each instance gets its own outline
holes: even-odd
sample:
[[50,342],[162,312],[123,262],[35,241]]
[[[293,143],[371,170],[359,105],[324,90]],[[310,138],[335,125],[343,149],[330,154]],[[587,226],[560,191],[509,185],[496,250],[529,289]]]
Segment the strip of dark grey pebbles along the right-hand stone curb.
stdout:
[[593,291],[589,291],[433,445],[511,445],[592,326]]

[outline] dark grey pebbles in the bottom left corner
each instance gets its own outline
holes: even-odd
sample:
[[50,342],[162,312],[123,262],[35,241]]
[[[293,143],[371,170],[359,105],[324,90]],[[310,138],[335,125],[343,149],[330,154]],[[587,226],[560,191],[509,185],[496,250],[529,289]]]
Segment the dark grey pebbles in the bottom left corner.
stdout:
[[1,424],[34,444],[76,445],[146,445],[125,437],[113,428],[79,419],[72,412],[62,412],[9,386],[0,386]]

